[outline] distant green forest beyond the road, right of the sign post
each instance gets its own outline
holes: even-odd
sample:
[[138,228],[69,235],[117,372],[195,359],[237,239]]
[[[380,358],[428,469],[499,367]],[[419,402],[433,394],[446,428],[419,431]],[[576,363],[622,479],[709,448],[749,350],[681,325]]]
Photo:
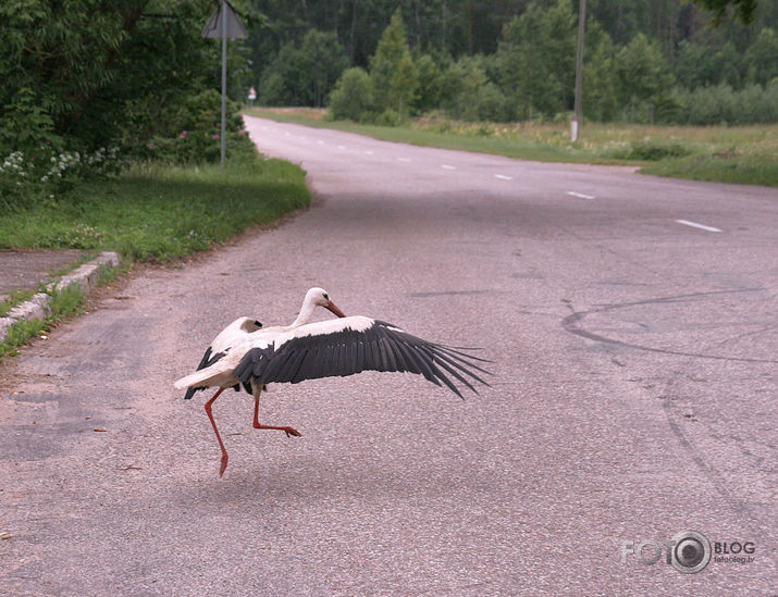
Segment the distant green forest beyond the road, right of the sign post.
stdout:
[[[702,5],[725,5],[716,0],[586,4],[585,117],[778,120],[778,2],[756,4],[748,24]],[[578,0],[256,5],[267,16],[249,40],[263,104],[329,103],[336,117],[381,124],[433,110],[554,120],[572,108]]]

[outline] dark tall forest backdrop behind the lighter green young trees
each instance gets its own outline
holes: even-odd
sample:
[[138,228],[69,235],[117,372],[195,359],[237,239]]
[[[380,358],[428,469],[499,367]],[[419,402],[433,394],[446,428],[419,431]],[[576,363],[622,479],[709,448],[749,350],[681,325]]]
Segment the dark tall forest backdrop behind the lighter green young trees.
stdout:
[[[251,35],[254,59],[268,62],[286,43],[299,43],[311,29],[332,32],[351,65],[367,67],[378,40],[397,8],[408,32],[411,50],[436,49],[454,58],[492,54],[503,39],[505,26],[531,4],[548,9],[555,0],[256,0],[268,21]],[[567,2],[578,15],[578,0]],[[748,2],[745,2],[748,3]],[[738,18],[720,22],[713,32],[714,14],[705,7],[726,4],[701,0],[588,0],[586,13],[623,46],[642,33],[656,39],[670,59],[681,41],[713,43],[731,41],[744,51],[765,27],[778,25],[778,3],[753,2],[753,22],[743,27]],[[715,34],[716,39],[711,35]]]

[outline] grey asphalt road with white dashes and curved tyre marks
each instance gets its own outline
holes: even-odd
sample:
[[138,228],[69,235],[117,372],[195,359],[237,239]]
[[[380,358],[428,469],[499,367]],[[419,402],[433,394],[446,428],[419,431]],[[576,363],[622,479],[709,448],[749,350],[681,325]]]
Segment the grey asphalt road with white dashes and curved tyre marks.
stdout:
[[[310,210],[0,368],[3,593],[775,594],[775,189],[247,122],[307,170]],[[276,385],[262,421],[300,438],[225,393],[219,478],[206,395],[172,383],[313,285],[483,347],[492,385]],[[683,531],[753,552],[682,574],[663,542]]]

